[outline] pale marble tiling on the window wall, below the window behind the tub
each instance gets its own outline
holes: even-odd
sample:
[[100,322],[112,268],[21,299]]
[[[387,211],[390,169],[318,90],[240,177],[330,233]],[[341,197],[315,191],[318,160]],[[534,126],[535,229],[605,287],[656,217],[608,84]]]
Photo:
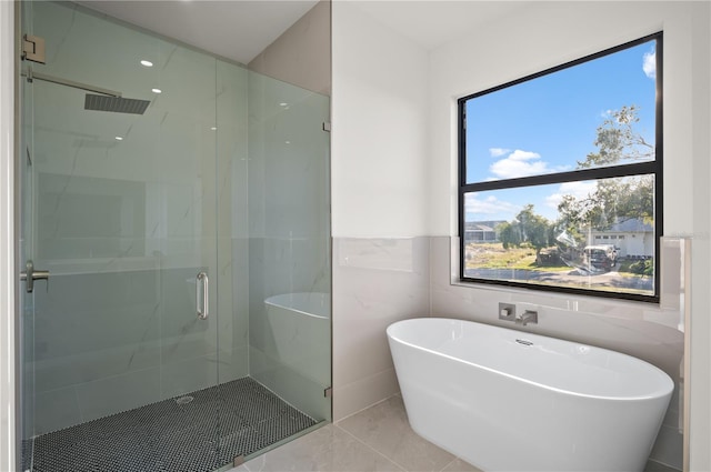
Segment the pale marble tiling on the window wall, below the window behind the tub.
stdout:
[[432,315],[469,319],[522,329],[498,319],[498,303],[539,311],[539,323],[527,331],[599,345],[651,362],[680,379],[683,333],[680,313],[651,303],[591,297],[497,289],[457,282],[454,238],[432,238]]

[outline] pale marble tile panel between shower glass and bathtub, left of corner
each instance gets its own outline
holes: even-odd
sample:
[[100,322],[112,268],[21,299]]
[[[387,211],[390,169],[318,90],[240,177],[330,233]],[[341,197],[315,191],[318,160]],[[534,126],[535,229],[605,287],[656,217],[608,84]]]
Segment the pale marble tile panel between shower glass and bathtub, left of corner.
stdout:
[[397,391],[385,329],[430,312],[429,239],[337,238],[333,260],[333,411],[339,420]]

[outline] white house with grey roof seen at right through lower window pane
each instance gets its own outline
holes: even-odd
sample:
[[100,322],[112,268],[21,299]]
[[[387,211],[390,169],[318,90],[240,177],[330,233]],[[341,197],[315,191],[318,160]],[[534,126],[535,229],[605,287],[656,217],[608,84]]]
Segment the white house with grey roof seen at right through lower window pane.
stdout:
[[591,244],[614,244],[619,258],[652,258],[654,227],[640,219],[625,220],[607,230],[593,230]]

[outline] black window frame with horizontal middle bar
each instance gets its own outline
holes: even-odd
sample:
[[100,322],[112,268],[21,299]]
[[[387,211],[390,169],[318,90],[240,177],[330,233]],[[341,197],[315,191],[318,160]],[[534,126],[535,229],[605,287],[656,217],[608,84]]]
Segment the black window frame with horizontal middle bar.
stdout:
[[[615,52],[640,46],[645,42],[655,41],[655,61],[657,61],[657,78],[655,78],[655,130],[654,130],[654,145],[655,155],[653,161],[633,162],[619,165],[599,167],[599,168],[585,168],[577,169],[573,171],[548,173],[540,175],[530,175],[514,179],[481,181],[475,183],[467,183],[467,114],[465,103],[468,100],[482,97],[498,90],[502,90],[509,87],[517,86],[522,82],[531,81],[543,76],[548,76],[564,69],[573,68],[575,66],[613,54]],[[663,31],[659,31],[652,34],[644,36],[642,38],[605,49],[603,51],[582,57],[580,59],[565,62],[563,64],[545,69],[541,72],[537,72],[523,78],[507,82],[501,86],[497,86],[481,92],[472,93],[467,97],[458,99],[458,153],[459,153],[459,192],[458,192],[458,213],[459,213],[459,279],[460,282],[465,283],[481,283],[487,285],[510,287],[520,288],[543,292],[557,292],[557,293],[570,293],[577,295],[590,295],[608,299],[621,299],[642,301],[650,303],[659,303],[660,301],[660,248],[661,238],[663,235]],[[654,175],[654,293],[652,295],[643,295],[638,293],[621,293],[609,292],[594,289],[580,289],[572,287],[559,287],[559,285],[545,285],[545,284],[532,284],[525,282],[515,282],[510,280],[495,280],[495,279],[481,279],[465,277],[465,241],[464,241],[464,198],[467,193],[481,192],[488,190],[503,190],[523,187],[534,187],[541,184],[555,184],[563,182],[577,182],[585,180],[601,180],[609,178],[623,178],[642,174]]]

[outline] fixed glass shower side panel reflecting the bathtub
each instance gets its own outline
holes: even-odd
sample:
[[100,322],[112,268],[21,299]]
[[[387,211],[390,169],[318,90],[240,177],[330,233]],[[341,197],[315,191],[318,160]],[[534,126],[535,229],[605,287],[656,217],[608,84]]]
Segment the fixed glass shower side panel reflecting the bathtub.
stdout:
[[329,98],[250,72],[250,371],[330,420]]

